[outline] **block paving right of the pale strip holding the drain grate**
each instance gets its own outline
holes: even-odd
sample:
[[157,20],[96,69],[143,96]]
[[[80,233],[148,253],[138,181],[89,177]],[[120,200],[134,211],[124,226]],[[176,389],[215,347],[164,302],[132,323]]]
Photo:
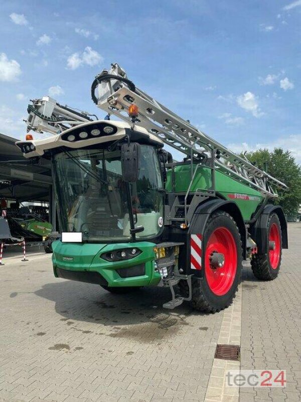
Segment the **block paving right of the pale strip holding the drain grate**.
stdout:
[[243,270],[241,368],[286,370],[285,388],[241,388],[240,402],[301,400],[301,224],[289,224],[289,250],[272,282]]

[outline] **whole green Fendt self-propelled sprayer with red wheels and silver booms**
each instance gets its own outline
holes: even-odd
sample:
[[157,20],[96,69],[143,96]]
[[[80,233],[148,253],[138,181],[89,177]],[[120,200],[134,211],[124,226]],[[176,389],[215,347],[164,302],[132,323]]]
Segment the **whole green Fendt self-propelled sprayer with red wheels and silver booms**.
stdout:
[[52,163],[56,277],[112,293],[165,286],[165,308],[187,300],[209,313],[232,303],[243,260],[257,278],[277,277],[287,225],[270,200],[284,183],[138,89],[118,64],[96,76],[91,96],[105,120],[35,99],[28,131],[53,136],[16,143]]

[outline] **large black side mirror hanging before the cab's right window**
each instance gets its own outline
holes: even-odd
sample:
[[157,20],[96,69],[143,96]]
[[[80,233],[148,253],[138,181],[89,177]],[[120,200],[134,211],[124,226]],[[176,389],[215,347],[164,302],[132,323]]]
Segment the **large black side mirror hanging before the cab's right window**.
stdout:
[[121,169],[124,181],[137,181],[139,175],[140,144],[121,145]]

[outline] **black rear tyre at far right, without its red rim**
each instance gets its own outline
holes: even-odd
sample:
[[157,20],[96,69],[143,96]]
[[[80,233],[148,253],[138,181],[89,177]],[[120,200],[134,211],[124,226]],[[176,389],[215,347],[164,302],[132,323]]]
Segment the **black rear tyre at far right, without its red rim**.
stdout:
[[[269,234],[272,225],[276,225],[279,233],[280,249],[279,249],[279,262],[275,268],[272,267],[269,252]],[[251,267],[254,276],[260,280],[273,280],[278,276],[278,272],[281,265],[282,257],[282,236],[281,236],[281,225],[277,214],[271,214],[267,221],[266,227],[266,253],[265,254],[254,254],[251,259]]]

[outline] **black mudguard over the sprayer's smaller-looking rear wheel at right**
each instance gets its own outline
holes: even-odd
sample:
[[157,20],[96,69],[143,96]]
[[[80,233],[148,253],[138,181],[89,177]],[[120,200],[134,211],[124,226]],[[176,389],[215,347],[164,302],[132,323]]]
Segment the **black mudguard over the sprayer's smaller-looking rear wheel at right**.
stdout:
[[258,217],[257,221],[252,226],[250,233],[252,239],[257,244],[258,254],[265,254],[267,250],[267,221],[270,214],[277,214],[280,225],[281,225],[281,235],[282,235],[282,248],[288,248],[288,236],[287,236],[287,223],[284,216],[284,212],[279,205],[268,204],[264,207],[261,215]]

